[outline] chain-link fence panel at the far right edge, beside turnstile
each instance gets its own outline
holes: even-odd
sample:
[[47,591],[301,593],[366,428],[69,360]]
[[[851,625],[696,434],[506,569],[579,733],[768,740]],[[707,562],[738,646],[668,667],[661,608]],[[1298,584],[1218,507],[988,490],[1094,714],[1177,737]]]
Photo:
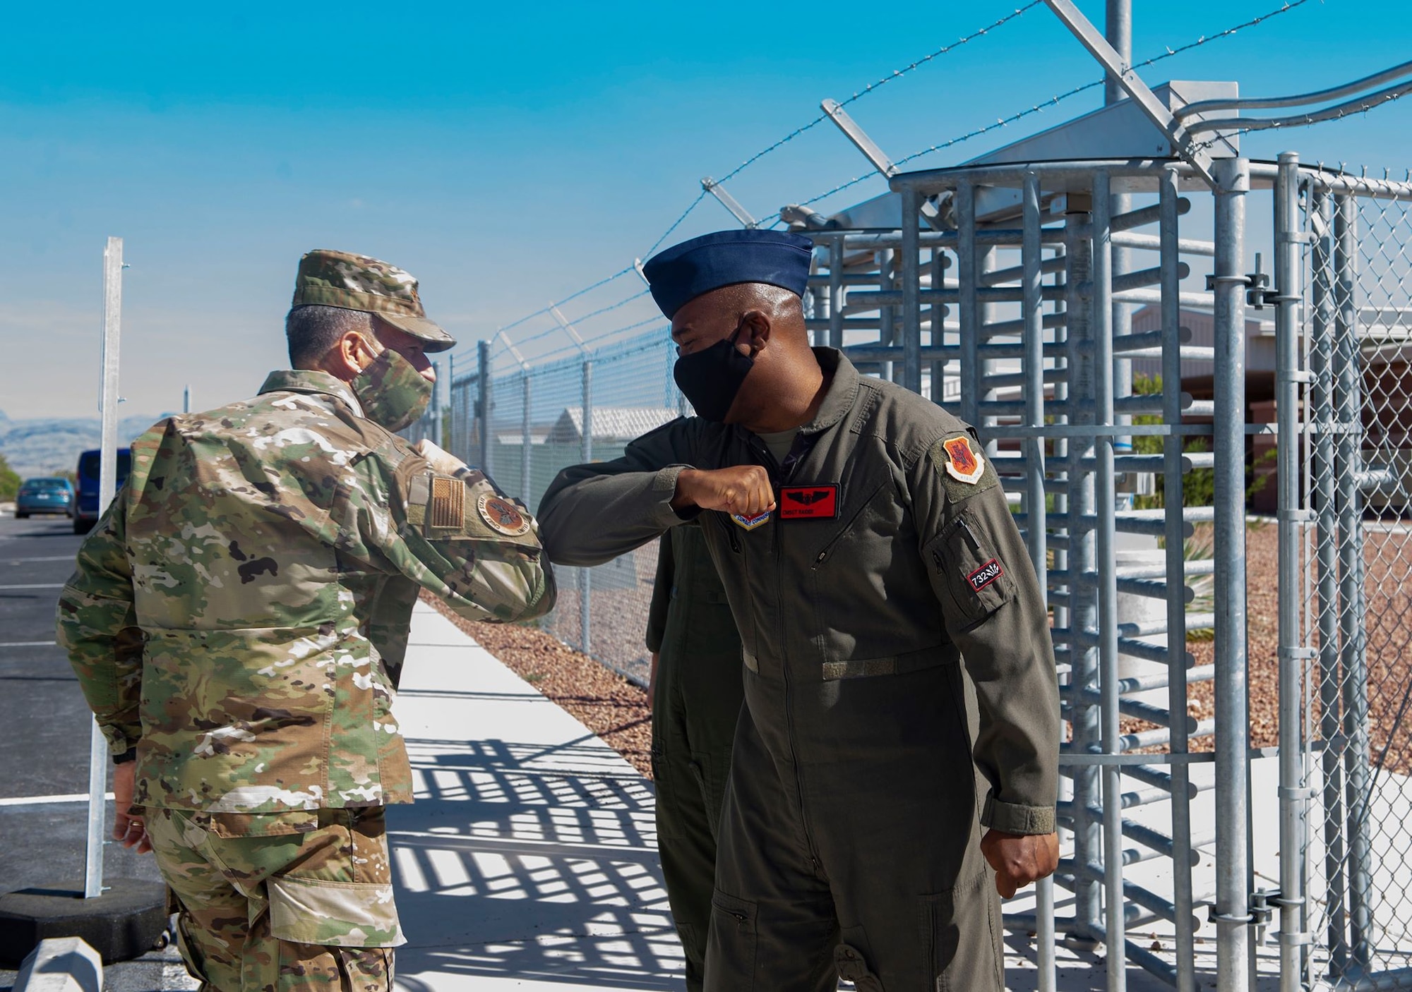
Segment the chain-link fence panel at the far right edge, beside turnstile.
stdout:
[[1306,981],[1412,988],[1412,186],[1303,207]]

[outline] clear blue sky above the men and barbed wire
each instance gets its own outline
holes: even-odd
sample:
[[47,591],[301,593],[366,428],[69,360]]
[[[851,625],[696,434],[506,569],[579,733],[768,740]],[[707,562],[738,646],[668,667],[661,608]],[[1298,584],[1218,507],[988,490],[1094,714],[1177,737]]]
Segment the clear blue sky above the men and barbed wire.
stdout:
[[[250,395],[285,364],[302,251],[387,258],[463,343],[642,255],[747,157],[894,69],[1012,11],[967,4],[18,4],[0,66],[0,409],[90,415],[102,248],[121,236],[124,413]],[[1090,17],[1103,4],[1080,0]],[[1279,0],[1134,1],[1134,51],[1245,21]],[[1394,0],[1309,0],[1171,58],[1149,83],[1238,79],[1244,95],[1346,82],[1408,58]],[[1042,6],[850,106],[901,158],[1096,78]],[[1093,109],[1043,114],[916,159],[952,165]],[[1412,99],[1247,138],[1247,154],[1412,165]],[[730,182],[755,216],[866,172],[830,126]],[[878,178],[819,206],[884,189]],[[731,226],[706,200],[674,234]],[[641,289],[620,278],[563,310]],[[586,333],[651,315],[645,299]],[[539,317],[515,332],[542,332]],[[531,347],[556,343],[546,336]]]

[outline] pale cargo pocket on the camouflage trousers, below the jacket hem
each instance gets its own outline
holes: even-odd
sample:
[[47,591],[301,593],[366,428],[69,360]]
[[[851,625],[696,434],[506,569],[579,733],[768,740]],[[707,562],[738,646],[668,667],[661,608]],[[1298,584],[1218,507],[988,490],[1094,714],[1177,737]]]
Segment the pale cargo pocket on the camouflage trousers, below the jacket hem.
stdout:
[[295,944],[400,947],[391,882],[325,882],[275,876],[265,882],[270,936]]

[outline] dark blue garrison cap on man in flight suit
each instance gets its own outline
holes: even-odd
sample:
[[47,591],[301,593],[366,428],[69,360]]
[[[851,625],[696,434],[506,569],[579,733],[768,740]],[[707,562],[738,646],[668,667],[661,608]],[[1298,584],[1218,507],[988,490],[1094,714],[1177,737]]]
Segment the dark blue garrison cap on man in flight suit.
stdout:
[[652,255],[642,274],[671,320],[689,299],[737,282],[767,282],[803,296],[813,241],[789,231],[736,229],[702,234]]

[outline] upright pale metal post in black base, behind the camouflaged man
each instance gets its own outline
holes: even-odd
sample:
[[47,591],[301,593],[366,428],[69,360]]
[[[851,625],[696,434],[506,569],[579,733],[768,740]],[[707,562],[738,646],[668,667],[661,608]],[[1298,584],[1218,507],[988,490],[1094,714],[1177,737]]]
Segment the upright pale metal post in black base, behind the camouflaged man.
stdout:
[[[97,512],[102,516],[117,492],[117,365],[123,337],[123,238],[110,237],[103,250],[103,353],[99,415]],[[103,827],[107,820],[107,739],[95,720],[89,728],[89,817],[83,844],[83,897],[103,895]]]

